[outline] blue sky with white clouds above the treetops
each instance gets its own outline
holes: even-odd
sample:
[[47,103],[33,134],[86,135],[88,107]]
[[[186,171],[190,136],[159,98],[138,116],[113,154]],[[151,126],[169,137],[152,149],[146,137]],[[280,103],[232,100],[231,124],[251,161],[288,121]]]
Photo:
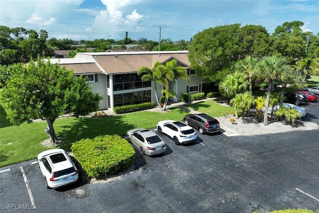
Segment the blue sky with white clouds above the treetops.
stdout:
[[[49,38],[190,40],[209,27],[241,23],[269,33],[284,22],[319,33],[319,0],[0,0],[0,25],[44,29]],[[161,29],[161,33],[160,33]]]

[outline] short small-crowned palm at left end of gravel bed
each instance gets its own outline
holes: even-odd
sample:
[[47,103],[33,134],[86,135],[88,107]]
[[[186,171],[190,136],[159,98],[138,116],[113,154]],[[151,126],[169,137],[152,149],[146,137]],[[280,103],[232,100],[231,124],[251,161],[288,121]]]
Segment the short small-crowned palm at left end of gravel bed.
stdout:
[[235,109],[243,110],[243,123],[245,122],[245,111],[248,111],[250,107],[255,104],[254,96],[248,91],[237,94],[232,100],[230,100],[230,103],[233,105],[233,107],[235,107]]

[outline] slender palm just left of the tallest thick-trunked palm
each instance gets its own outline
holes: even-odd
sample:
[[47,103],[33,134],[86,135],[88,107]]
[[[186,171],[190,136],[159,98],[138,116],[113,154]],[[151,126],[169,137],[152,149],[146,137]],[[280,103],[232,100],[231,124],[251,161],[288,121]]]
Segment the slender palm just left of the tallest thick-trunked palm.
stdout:
[[240,70],[243,73],[246,73],[249,77],[249,91],[253,90],[252,87],[252,79],[253,79],[253,74],[256,69],[256,64],[258,63],[259,58],[247,56],[244,60],[239,61],[236,64],[236,68]]

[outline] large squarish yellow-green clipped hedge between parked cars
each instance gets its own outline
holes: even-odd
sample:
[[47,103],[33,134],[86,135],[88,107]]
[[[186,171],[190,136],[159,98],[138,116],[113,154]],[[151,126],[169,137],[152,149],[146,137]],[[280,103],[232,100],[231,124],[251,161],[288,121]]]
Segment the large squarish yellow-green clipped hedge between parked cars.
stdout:
[[102,135],[73,143],[71,150],[88,177],[115,174],[134,163],[135,150],[119,135]]

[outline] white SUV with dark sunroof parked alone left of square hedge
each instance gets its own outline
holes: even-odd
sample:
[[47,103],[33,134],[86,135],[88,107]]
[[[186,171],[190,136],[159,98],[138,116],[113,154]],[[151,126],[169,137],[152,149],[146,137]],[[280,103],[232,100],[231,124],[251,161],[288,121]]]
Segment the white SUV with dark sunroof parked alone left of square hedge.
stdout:
[[63,149],[50,149],[37,156],[38,165],[48,189],[76,182],[78,169]]

